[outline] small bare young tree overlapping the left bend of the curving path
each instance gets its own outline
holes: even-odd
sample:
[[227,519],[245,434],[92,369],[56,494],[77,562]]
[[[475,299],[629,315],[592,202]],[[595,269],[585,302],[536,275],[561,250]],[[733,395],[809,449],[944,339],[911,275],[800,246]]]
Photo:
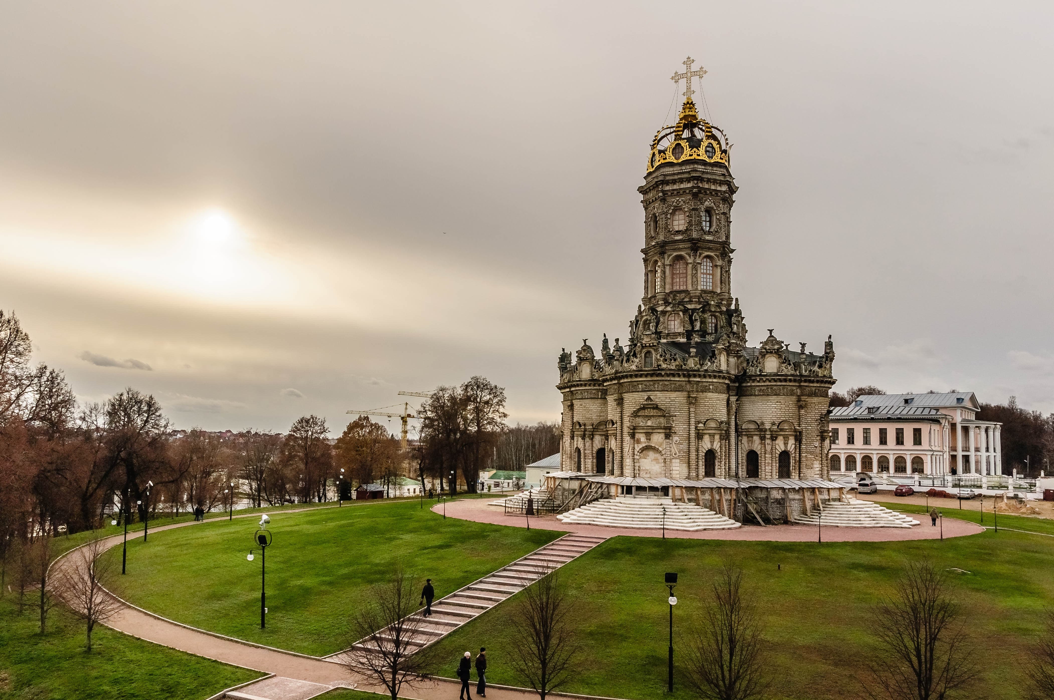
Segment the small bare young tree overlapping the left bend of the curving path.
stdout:
[[87,640],[84,650],[92,650],[92,631],[95,625],[112,618],[121,609],[120,601],[111,596],[102,581],[110,579],[113,558],[103,557],[106,547],[101,538],[94,538],[87,544],[69,555],[62,572],[56,577],[56,588],[75,616],[87,625]]

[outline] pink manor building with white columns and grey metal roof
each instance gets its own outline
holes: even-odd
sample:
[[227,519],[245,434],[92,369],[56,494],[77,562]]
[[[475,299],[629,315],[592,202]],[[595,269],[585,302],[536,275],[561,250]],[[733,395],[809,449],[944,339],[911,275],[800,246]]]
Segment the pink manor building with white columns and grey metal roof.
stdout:
[[977,421],[972,391],[860,396],[831,410],[831,475],[1002,473],[1001,423]]

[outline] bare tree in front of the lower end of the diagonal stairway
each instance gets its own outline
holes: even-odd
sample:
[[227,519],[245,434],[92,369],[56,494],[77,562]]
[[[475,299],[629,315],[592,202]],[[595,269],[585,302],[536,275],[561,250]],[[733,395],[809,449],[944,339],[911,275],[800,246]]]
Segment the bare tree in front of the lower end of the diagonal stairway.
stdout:
[[425,618],[417,615],[419,592],[419,582],[396,567],[391,580],[374,586],[352,616],[352,638],[358,641],[345,664],[353,675],[384,685],[392,700],[404,685],[424,681],[432,665],[431,648],[422,649],[415,641],[425,637]]

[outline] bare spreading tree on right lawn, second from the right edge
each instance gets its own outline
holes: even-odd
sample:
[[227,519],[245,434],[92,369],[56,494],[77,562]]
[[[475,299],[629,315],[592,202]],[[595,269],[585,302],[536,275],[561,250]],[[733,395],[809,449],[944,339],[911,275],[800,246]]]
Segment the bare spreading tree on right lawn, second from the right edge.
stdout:
[[945,571],[909,562],[875,609],[880,655],[864,692],[891,700],[944,700],[977,676],[975,655]]

